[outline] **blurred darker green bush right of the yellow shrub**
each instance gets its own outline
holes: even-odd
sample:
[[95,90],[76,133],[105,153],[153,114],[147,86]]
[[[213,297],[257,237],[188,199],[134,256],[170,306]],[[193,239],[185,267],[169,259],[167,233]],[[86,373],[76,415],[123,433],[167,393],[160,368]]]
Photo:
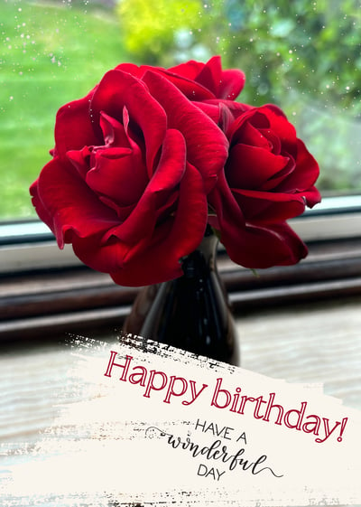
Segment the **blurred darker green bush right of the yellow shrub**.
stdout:
[[215,0],[208,5],[212,52],[241,64],[250,102],[298,89],[361,114],[359,0]]

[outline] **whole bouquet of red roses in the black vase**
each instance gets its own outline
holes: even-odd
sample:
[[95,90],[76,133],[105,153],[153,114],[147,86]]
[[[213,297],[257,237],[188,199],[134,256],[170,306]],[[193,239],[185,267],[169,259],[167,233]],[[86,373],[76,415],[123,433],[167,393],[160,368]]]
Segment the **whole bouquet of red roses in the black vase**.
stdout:
[[208,224],[246,268],[304,258],[286,221],[319,202],[318,164],[279,108],[236,102],[244,83],[219,57],[121,64],[60,108],[30,189],[60,248],[124,286],[180,277]]

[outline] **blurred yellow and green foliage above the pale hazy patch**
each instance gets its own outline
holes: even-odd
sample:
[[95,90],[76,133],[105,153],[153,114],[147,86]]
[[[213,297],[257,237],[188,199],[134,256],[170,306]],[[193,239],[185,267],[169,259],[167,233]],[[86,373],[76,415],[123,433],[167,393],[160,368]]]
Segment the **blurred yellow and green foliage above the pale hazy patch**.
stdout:
[[[250,103],[299,89],[327,95],[361,115],[359,0],[120,0],[125,48],[138,61],[166,65],[221,54],[241,67]],[[195,51],[196,48],[196,51]]]

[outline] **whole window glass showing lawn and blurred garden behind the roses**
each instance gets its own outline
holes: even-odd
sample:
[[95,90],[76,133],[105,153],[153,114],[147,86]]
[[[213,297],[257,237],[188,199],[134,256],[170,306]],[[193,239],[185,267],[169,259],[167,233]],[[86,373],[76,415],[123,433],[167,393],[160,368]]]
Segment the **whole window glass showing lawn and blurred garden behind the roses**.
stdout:
[[2,0],[0,218],[35,217],[28,187],[55,114],[122,61],[171,66],[220,54],[239,100],[280,106],[321,167],[319,187],[361,190],[358,0]]

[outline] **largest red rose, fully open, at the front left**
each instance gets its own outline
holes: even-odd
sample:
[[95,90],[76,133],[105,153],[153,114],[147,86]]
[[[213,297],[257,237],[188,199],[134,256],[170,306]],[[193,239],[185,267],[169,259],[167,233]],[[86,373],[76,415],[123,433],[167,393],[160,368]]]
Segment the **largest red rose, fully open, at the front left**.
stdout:
[[162,72],[134,76],[119,66],[60,108],[53,158],[32,184],[32,202],[60,248],[72,243],[116,283],[179,277],[180,258],[206,229],[207,194],[227,146]]

